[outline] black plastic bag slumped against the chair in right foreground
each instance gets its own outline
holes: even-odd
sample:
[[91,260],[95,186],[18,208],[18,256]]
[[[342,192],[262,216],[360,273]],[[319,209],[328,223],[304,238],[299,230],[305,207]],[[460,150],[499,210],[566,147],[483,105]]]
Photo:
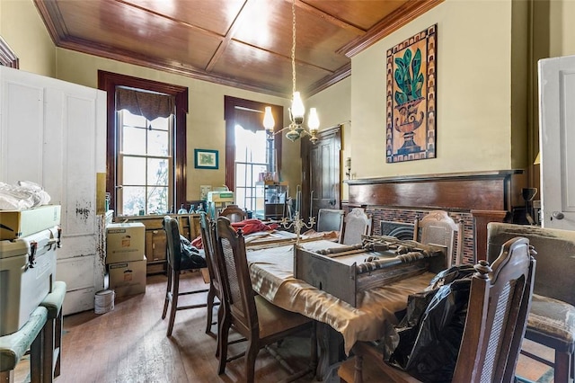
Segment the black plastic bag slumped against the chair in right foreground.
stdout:
[[447,269],[408,298],[396,326],[399,343],[387,362],[425,382],[450,382],[467,315],[472,265]]

